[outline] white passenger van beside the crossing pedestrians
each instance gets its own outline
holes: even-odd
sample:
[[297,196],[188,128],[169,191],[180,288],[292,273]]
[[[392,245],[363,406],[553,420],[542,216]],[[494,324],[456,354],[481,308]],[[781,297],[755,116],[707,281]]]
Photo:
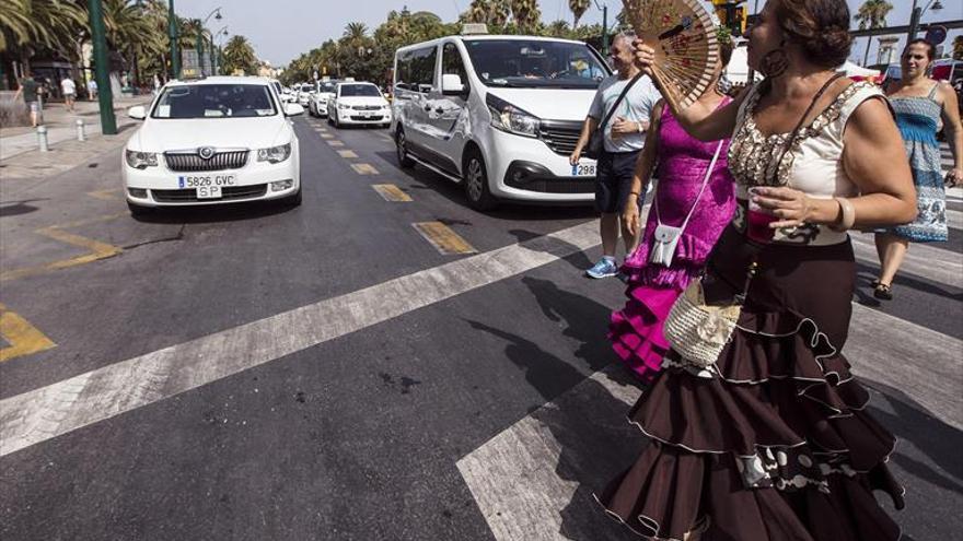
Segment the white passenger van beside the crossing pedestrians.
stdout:
[[595,162],[568,163],[611,73],[582,42],[449,36],[395,54],[392,133],[403,167],[464,185],[471,207],[499,199],[587,203]]

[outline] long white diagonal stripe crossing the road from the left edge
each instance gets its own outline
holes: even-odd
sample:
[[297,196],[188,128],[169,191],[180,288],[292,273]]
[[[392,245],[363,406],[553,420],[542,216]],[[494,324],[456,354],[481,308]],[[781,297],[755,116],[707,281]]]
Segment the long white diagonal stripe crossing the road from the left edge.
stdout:
[[0,401],[0,456],[592,248],[597,223],[466,257]]

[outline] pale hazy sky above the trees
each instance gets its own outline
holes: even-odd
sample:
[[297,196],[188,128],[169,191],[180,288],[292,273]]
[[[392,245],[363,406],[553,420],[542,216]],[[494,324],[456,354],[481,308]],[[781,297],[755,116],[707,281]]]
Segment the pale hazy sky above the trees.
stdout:
[[[611,24],[622,9],[622,2],[595,1],[608,5]],[[926,5],[928,1],[919,0],[919,3]],[[848,2],[849,9],[856,14],[862,0],[848,0]],[[926,12],[923,16],[924,23],[963,19],[963,2],[960,0],[941,0],[941,2],[943,9]],[[411,11],[430,11],[443,21],[452,22],[468,8],[469,3],[471,0],[174,0],[174,11],[181,16],[199,19],[207,16],[214,8],[221,7],[223,19],[216,21],[211,17],[208,21],[211,32],[227,26],[231,35],[247,36],[257,56],[277,67],[285,66],[328,38],[340,37],[345,25],[352,21],[363,22],[373,30],[384,22],[388,11],[401,10],[402,5],[406,4]],[[564,19],[571,23],[568,0],[538,0],[538,3],[544,22]],[[751,13],[754,12],[756,3],[762,9],[766,2],[749,0]],[[893,11],[887,17],[889,25],[908,24],[912,0],[890,0],[890,3],[893,4]],[[593,5],[582,17],[582,22],[601,23],[602,12]],[[959,31],[950,33],[947,38],[948,48],[953,36],[959,33]],[[865,47],[866,42],[858,40],[850,58],[858,63],[861,62]],[[870,63],[873,63],[874,58],[873,43],[870,48]]]

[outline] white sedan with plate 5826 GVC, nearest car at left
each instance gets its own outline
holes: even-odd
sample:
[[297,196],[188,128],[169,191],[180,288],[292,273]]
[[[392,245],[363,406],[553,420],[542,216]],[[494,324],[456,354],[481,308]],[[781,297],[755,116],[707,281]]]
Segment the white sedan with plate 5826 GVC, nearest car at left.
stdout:
[[149,108],[128,110],[143,120],[121,156],[131,214],[253,200],[301,204],[299,143],[288,117],[302,113],[281,104],[262,78],[167,83]]

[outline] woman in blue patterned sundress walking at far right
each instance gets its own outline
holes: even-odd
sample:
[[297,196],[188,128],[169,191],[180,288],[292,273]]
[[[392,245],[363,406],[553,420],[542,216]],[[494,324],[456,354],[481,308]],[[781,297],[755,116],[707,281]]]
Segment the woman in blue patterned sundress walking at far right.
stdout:
[[947,239],[947,193],[940,172],[940,143],[937,141],[941,118],[954,158],[945,181],[955,184],[963,179],[963,129],[960,126],[956,93],[949,84],[926,75],[933,52],[932,44],[925,39],[910,42],[901,62],[903,79],[886,89],[913,169],[919,211],[915,221],[877,233],[880,275],[873,282],[873,295],[884,301],[893,298],[893,278],[903,263],[910,242]]

